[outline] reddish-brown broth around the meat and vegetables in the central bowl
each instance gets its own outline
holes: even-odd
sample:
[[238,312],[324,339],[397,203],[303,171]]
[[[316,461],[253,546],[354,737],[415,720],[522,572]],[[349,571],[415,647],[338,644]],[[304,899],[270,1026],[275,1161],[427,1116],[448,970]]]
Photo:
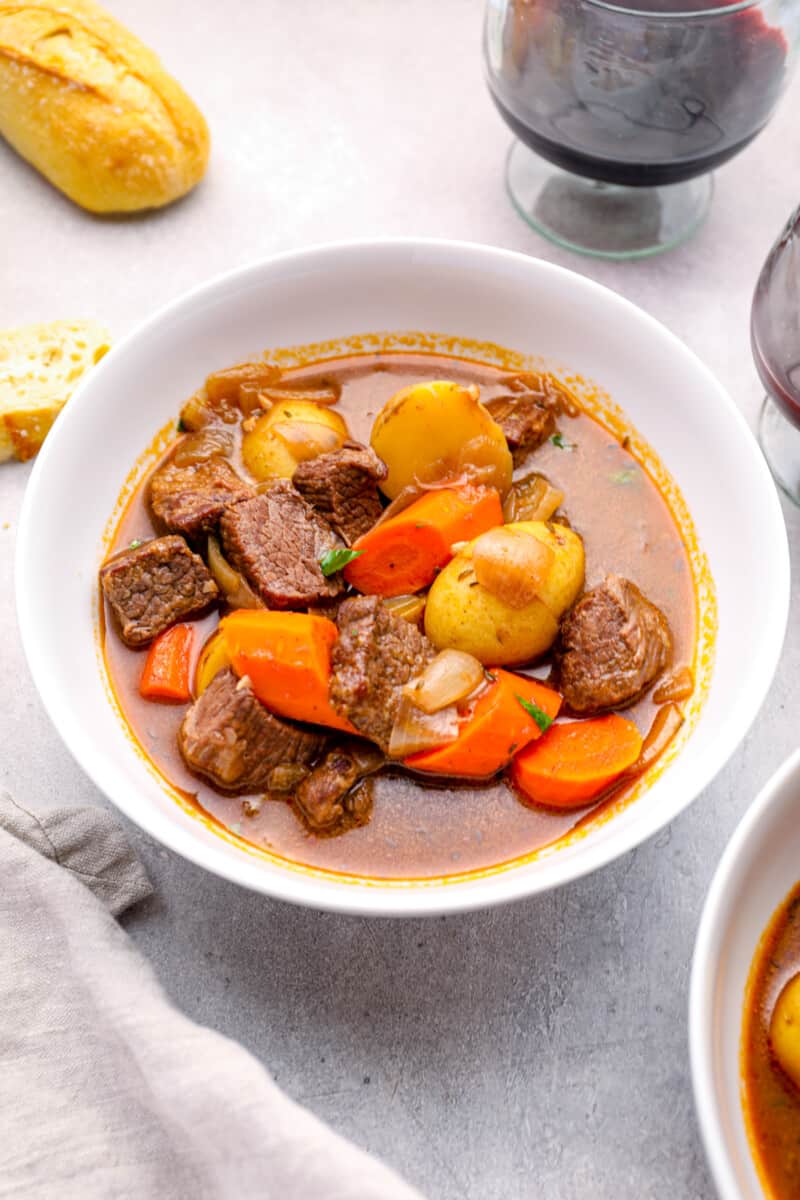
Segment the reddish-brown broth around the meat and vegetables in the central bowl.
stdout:
[[[338,408],[350,433],[368,443],[377,413],[401,388],[433,378],[464,380],[477,384],[481,400],[489,401],[507,394],[504,379],[509,371],[449,355],[391,352],[296,367],[285,371],[283,379],[307,383],[320,374],[341,385]],[[516,475],[535,469],[564,492],[561,511],[585,544],[587,589],[609,571],[632,578],[669,622],[674,665],[691,666],[696,643],[693,578],[669,506],[622,442],[596,420],[581,413],[563,418],[560,428],[561,445],[547,442]],[[122,514],[113,551],[154,535],[145,484],[146,479]],[[196,622],[198,654],[217,620],[213,613]],[[381,773],[374,784],[372,818],[344,836],[309,833],[287,802],[267,800],[247,816],[242,797],[221,794],[184,763],[176,742],[184,707],[155,704],[139,696],[144,652],[131,650],[106,634],[107,628],[103,644],[114,691],[137,740],[158,770],[227,829],[309,866],[380,878],[462,874],[529,854],[564,836],[588,814],[595,818],[624,794],[618,790],[601,806],[551,811],[524,805],[501,781],[423,785],[407,774]],[[533,673],[543,676],[547,671]],[[646,733],[655,712],[648,695],[626,715]],[[636,781],[627,785],[634,786]]]

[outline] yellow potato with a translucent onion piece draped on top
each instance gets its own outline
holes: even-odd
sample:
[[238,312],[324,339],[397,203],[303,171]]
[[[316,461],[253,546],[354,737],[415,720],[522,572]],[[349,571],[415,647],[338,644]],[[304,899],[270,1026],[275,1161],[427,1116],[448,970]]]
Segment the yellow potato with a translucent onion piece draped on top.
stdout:
[[583,588],[583,542],[575,530],[541,521],[521,521],[507,528],[529,533],[553,551],[536,599],[523,607],[505,604],[477,582],[471,544],[465,546],[428,593],[425,631],[438,649],[465,650],[486,666],[519,666],[553,644],[559,618]]

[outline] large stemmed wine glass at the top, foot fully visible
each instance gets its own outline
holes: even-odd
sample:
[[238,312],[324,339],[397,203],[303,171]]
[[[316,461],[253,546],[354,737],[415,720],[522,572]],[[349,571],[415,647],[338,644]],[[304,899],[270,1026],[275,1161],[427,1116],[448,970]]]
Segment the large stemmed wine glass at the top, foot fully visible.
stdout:
[[488,0],[511,199],[571,250],[642,258],[705,217],[711,172],[764,127],[800,0]]

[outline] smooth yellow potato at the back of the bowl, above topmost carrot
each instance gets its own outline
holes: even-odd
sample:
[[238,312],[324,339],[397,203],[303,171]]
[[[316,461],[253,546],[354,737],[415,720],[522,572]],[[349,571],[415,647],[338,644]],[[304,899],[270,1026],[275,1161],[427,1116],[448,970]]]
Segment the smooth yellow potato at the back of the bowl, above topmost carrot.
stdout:
[[503,430],[479,401],[475,386],[446,379],[403,388],[372,427],[372,449],[386,463],[381,491],[395,499],[415,481],[429,482],[465,469],[505,496],[513,463]]

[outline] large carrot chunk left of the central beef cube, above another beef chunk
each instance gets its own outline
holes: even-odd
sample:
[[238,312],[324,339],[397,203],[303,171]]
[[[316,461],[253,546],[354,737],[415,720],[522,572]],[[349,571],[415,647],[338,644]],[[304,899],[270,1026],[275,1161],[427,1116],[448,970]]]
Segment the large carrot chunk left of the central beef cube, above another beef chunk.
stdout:
[[228,656],[237,676],[278,716],[355,733],[327,698],[331,647],[338,637],[332,620],[308,612],[240,608],[225,617]]

